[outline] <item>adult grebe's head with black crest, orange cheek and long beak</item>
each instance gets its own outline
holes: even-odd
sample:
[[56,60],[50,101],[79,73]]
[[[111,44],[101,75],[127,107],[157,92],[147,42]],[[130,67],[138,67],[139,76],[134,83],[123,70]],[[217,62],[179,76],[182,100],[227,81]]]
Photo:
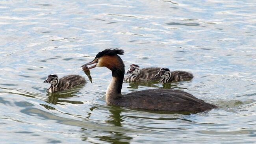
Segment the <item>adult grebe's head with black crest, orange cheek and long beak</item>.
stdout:
[[[124,63],[118,54],[123,55],[124,50],[121,49],[105,49],[102,52],[99,52],[93,61],[82,65],[83,70],[89,70],[95,67],[107,67],[109,70],[122,70],[124,71]],[[89,68],[84,68],[87,65],[95,64]]]

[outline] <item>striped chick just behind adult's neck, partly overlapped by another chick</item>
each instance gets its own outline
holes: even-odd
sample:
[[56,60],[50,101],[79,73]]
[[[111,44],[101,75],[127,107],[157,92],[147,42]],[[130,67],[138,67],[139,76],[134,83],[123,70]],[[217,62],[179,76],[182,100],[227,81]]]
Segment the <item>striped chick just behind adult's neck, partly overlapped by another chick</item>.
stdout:
[[128,82],[140,82],[140,81],[152,81],[158,80],[161,77],[155,76],[161,68],[149,67],[140,69],[138,65],[132,64],[127,70],[128,76],[124,77],[124,81]]

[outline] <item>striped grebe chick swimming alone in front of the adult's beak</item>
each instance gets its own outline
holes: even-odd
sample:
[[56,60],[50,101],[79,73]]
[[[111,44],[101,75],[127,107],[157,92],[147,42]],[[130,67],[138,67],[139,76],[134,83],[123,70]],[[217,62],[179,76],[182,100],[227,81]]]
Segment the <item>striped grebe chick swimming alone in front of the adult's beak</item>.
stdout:
[[79,75],[68,75],[59,79],[56,74],[50,74],[45,79],[44,83],[51,84],[51,86],[47,89],[47,92],[52,93],[68,90],[74,86],[83,85],[86,83],[86,81],[83,76]]

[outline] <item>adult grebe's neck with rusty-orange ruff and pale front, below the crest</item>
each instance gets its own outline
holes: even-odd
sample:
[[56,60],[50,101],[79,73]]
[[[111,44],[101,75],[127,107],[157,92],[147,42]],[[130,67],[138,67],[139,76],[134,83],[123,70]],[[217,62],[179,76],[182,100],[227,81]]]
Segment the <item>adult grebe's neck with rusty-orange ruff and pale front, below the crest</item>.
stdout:
[[122,82],[124,79],[124,63],[118,56],[102,56],[98,62],[101,67],[107,67],[112,71],[112,80],[106,93],[106,102],[113,104],[117,97],[121,96]]

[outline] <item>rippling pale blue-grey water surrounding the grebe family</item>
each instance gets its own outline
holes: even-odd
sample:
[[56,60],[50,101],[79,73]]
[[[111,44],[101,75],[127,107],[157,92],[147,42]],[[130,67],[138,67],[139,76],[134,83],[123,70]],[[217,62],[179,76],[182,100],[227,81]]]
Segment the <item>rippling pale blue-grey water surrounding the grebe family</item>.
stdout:
[[[250,0],[3,0],[0,2],[0,140],[31,143],[256,143],[256,3]],[[120,47],[126,69],[194,74],[162,85],[124,83],[126,94],[180,89],[210,112],[131,110],[105,103],[111,72],[47,94],[48,74],[85,76],[81,65]]]

